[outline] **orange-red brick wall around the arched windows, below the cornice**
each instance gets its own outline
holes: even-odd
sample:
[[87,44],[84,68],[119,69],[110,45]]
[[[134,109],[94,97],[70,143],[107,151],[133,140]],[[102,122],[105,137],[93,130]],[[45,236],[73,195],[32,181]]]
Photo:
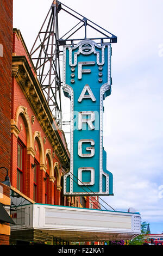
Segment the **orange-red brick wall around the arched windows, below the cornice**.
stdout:
[[[15,120],[16,116],[16,111],[19,106],[24,106],[27,107],[27,113],[29,115],[29,119],[32,117],[32,115],[35,115],[33,112],[32,108],[29,105],[29,102],[26,99],[26,96],[24,96],[22,89],[16,82],[15,78],[12,78],[12,97],[13,97],[13,102],[12,102],[12,117]],[[20,125],[22,127],[22,130],[20,128]],[[47,137],[45,132],[42,130],[41,125],[39,124],[39,121],[37,118],[35,118],[34,124],[31,123],[32,127],[32,133],[34,134],[35,131],[41,132],[41,138],[43,141],[43,137]],[[18,129],[20,130],[20,134],[18,135],[18,138],[21,139],[21,141],[24,143],[25,146],[27,146],[27,129],[24,124],[24,120],[22,119],[21,116],[18,118]],[[17,138],[12,135],[11,136],[11,185],[16,187],[16,180],[17,180]],[[44,153],[46,152],[46,149],[51,149],[51,153],[53,152],[53,148],[51,143],[46,139],[46,143],[44,145]],[[36,146],[36,148],[35,148]],[[39,152],[39,143],[37,143],[37,139],[35,139],[35,145],[34,145],[34,150],[36,151],[35,159],[40,163],[40,152]],[[36,150],[37,149],[37,150]],[[34,159],[30,155],[26,155],[26,173],[25,179],[24,179],[24,188],[23,188],[23,193],[26,194],[30,199],[33,200],[33,169],[31,167],[31,164],[34,163]],[[53,160],[53,162],[56,162],[57,160]],[[47,164],[48,164],[48,159],[47,159]],[[58,160],[59,162],[59,160]],[[47,168],[47,174],[49,175],[49,168]],[[61,172],[61,171],[60,171]],[[40,179],[38,181],[38,185],[40,187],[40,193],[39,193],[39,202],[38,203],[45,203],[45,182],[43,181],[43,177],[45,178],[45,172],[40,170]],[[43,184],[42,184],[43,182]],[[52,186],[49,185],[49,191],[51,191],[52,195],[54,194],[54,184]],[[54,201],[54,197],[52,196],[51,200],[49,200],[49,203],[52,203]]]

